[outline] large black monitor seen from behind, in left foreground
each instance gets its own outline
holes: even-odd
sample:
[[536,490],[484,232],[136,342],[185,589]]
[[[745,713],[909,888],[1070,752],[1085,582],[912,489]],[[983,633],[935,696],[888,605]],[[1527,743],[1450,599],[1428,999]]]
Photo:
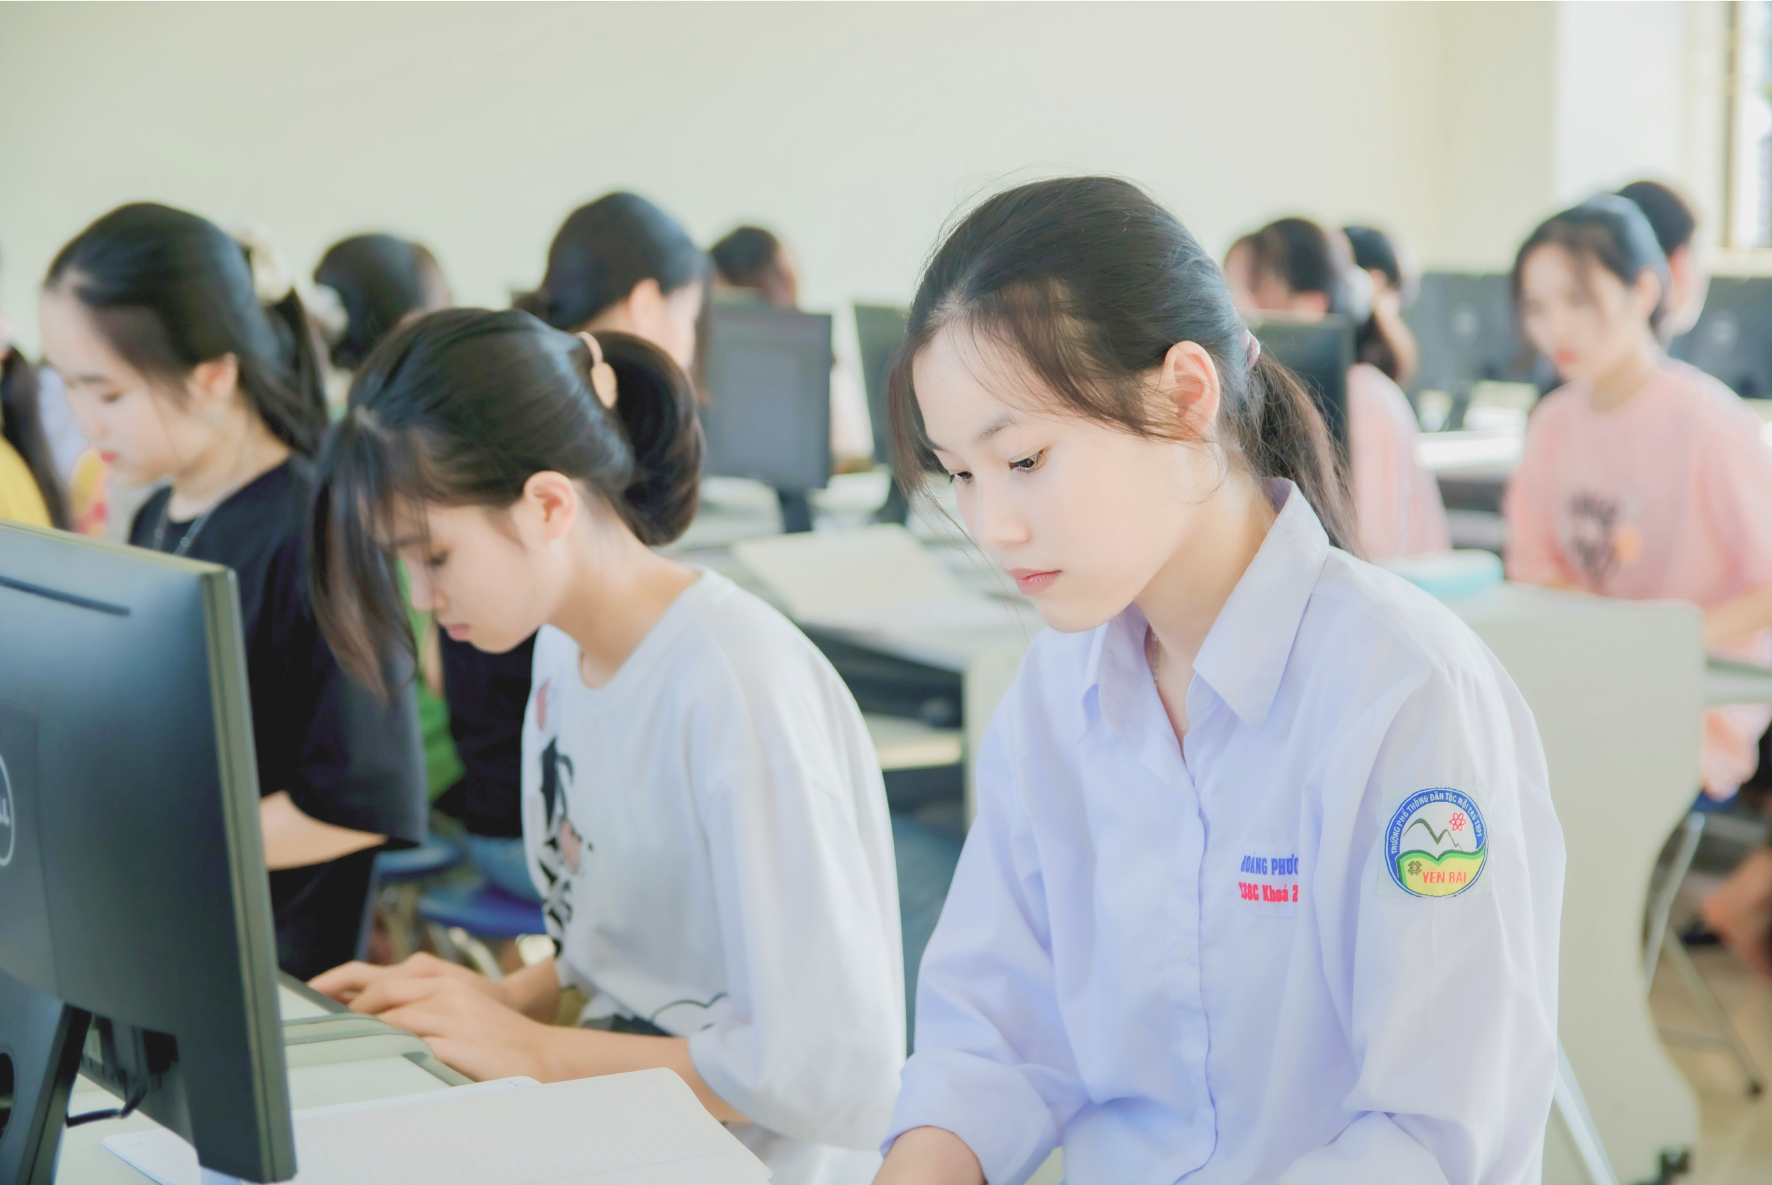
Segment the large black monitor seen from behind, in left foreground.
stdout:
[[113,1114],[67,1119],[78,1072],[296,1173],[234,574],[0,523],[0,1181]]

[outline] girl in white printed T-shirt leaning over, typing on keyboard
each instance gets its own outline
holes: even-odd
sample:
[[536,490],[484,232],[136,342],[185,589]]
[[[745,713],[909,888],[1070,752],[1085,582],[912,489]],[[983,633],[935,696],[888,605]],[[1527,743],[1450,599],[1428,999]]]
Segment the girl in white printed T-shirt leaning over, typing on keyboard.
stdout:
[[[475,1079],[666,1066],[776,1181],[867,1180],[904,1059],[879,765],[803,634],[652,551],[689,524],[700,462],[693,390],[636,337],[452,310],[358,372],[314,503],[321,620],[372,677],[399,556],[452,638],[501,652],[540,627],[523,824],[558,957],[314,985]],[[578,1029],[548,1024],[567,985]]]

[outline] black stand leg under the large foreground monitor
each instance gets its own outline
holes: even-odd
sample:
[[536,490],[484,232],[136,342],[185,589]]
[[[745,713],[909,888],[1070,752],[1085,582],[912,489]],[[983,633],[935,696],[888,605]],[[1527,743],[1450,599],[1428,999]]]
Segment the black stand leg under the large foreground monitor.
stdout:
[[92,1015],[0,971],[0,1181],[53,1185]]

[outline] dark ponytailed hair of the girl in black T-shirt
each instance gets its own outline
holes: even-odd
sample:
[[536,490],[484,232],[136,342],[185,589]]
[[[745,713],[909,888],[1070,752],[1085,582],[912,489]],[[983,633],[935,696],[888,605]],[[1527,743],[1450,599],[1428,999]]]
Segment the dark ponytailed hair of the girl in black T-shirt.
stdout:
[[181,379],[223,354],[271,434],[308,455],[326,430],[319,356],[301,298],[259,305],[246,248],[213,221],[151,202],[119,205],[64,246],[46,289],[74,296],[136,370]]

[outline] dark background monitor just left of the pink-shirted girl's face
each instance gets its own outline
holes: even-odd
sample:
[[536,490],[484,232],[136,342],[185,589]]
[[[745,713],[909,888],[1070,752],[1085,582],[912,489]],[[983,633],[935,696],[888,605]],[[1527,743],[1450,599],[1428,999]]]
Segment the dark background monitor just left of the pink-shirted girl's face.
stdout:
[[1403,322],[1421,347],[1411,393],[1446,391],[1458,420],[1478,383],[1543,386],[1543,368],[1527,352],[1513,317],[1513,280],[1506,273],[1430,271],[1403,310]]

